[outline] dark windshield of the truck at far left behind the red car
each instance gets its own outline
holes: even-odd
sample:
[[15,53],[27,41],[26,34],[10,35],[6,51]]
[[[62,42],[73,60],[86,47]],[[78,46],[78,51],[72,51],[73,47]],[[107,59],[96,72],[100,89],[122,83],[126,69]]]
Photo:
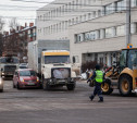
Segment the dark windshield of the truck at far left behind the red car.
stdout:
[[15,57],[2,57],[0,63],[18,63],[18,59]]

